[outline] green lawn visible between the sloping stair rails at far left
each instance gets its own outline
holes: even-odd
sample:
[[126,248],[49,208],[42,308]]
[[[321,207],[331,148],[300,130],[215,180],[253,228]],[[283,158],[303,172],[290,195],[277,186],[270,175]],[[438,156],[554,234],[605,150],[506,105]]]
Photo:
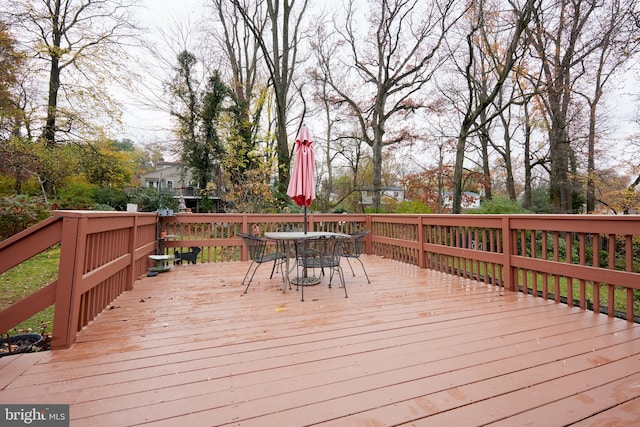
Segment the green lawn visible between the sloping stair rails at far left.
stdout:
[[[0,311],[42,288],[58,277],[60,247],[55,246],[0,274]],[[48,307],[9,331],[11,335],[25,332],[51,332],[54,306]]]

